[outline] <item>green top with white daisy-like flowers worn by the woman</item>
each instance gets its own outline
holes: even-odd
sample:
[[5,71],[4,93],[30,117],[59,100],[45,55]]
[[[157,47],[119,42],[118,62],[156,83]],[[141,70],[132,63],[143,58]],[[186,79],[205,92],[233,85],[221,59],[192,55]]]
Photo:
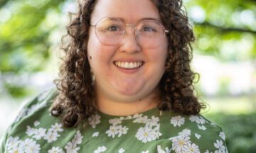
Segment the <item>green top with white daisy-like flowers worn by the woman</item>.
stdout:
[[157,108],[127,116],[99,112],[77,128],[64,128],[49,112],[56,94],[41,94],[23,108],[2,139],[1,153],[228,152],[224,132],[203,116]]

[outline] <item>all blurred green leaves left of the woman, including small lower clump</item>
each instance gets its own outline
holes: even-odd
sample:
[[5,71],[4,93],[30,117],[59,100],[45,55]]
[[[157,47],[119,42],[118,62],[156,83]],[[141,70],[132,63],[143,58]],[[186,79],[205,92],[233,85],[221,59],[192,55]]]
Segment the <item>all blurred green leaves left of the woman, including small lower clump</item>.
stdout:
[[[52,35],[61,24],[64,0],[0,1],[0,93],[22,98],[31,92],[28,84],[12,81],[45,69],[53,55]],[[54,16],[58,16],[57,19]],[[22,80],[20,80],[22,82]]]

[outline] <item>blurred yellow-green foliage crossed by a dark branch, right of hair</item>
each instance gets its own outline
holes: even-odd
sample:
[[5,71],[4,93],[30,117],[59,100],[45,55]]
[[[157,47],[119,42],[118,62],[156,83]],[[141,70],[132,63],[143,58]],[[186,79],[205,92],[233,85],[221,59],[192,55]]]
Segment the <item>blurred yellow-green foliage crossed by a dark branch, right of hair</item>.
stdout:
[[196,50],[222,60],[256,57],[256,1],[188,0],[197,35]]

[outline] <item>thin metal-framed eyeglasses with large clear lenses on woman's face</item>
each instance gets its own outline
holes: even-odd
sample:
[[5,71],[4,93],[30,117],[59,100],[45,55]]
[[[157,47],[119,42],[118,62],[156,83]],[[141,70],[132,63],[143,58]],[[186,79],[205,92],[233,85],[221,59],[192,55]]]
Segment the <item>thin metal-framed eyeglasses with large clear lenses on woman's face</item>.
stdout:
[[111,46],[121,42],[128,26],[134,27],[136,40],[145,48],[159,47],[165,38],[165,33],[169,33],[169,30],[165,30],[164,26],[154,19],[145,19],[133,25],[126,24],[119,18],[105,17],[90,26],[95,27],[97,38],[103,45]]

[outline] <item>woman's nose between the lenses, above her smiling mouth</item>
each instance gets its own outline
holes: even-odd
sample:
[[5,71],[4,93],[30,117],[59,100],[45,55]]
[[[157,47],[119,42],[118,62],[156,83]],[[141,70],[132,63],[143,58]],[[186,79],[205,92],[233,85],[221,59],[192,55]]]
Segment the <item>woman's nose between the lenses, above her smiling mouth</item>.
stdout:
[[139,45],[139,42],[137,40],[137,34],[135,33],[136,26],[134,25],[127,25],[125,32],[124,32],[124,38],[122,38],[122,41],[120,43],[120,50],[122,52],[128,52],[128,53],[134,53],[134,52],[140,52],[141,46]]

